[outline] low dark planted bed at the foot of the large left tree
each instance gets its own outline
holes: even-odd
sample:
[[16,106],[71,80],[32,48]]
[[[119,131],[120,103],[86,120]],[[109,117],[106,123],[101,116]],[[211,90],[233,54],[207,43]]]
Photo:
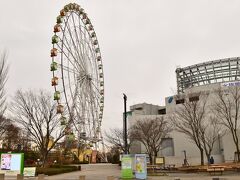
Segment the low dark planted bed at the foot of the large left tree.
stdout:
[[61,166],[61,165],[54,165],[51,167],[38,167],[37,168],[37,175],[38,174],[45,174],[45,175],[56,175],[56,174],[62,174],[62,173],[68,173],[78,171],[77,166]]

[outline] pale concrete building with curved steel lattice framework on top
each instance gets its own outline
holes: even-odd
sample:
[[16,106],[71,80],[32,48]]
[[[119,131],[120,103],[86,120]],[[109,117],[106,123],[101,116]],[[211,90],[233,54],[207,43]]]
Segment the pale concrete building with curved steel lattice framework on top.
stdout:
[[[199,93],[208,93],[208,101],[212,101],[214,92],[219,87],[228,89],[229,86],[240,86],[240,59],[221,59],[201,64],[177,68],[177,90],[178,94],[165,98],[165,106],[152,104],[136,104],[130,107],[132,112],[128,117],[131,127],[136,120],[156,118],[157,116],[169,116],[179,106],[184,103],[185,98],[192,95],[193,100],[201,101]],[[183,164],[184,153],[186,151],[188,163],[195,165],[200,163],[200,152],[196,145],[192,143],[184,134],[173,131],[164,139],[163,150],[159,156],[165,157],[166,164]],[[145,147],[135,142],[131,147],[131,153],[145,153]],[[226,133],[222,138],[218,138],[212,151],[212,156],[216,163],[234,160],[235,145],[230,133]],[[205,162],[207,162],[205,158]]]

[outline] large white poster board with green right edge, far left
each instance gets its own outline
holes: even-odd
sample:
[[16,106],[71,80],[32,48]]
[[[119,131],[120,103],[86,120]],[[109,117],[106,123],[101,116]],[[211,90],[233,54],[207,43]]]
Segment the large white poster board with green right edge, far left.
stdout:
[[23,174],[23,153],[2,153],[0,173],[8,175]]

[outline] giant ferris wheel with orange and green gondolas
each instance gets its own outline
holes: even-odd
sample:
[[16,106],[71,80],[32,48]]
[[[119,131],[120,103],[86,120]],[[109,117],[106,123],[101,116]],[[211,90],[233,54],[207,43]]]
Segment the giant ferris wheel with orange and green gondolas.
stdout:
[[93,25],[84,9],[70,3],[60,11],[53,28],[52,86],[57,113],[68,137],[102,141],[104,76]]

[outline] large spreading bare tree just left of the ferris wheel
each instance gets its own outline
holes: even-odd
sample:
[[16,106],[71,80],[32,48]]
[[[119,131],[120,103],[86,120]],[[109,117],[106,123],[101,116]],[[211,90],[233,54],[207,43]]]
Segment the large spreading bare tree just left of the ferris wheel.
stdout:
[[56,113],[56,104],[51,99],[51,96],[42,90],[18,90],[11,106],[14,119],[37,145],[43,165],[51,149],[64,136],[64,129],[60,127],[60,118]]

